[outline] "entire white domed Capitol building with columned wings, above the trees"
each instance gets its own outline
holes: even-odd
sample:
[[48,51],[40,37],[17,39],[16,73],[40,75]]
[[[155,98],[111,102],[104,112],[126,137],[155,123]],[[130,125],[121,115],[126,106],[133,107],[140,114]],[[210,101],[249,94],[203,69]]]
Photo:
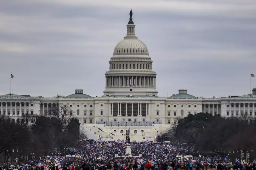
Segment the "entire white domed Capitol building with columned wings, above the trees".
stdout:
[[221,116],[255,116],[256,89],[251,95],[200,98],[178,90],[170,97],[158,97],[156,72],[146,45],[135,35],[130,17],[127,33],[114,48],[105,73],[106,87],[101,97],[91,97],[82,89],[66,97],[0,96],[0,114],[16,121],[22,114],[47,115],[50,107],[68,105],[81,124],[138,126],[176,124],[178,118],[199,112]]

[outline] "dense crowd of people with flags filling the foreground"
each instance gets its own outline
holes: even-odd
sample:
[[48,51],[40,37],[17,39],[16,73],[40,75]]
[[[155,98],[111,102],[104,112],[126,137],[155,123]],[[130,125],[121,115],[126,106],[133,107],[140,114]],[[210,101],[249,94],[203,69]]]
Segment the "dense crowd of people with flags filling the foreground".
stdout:
[[66,148],[65,155],[47,155],[19,166],[3,164],[0,170],[256,170],[254,162],[193,157],[193,148],[184,143],[130,142],[131,157],[126,147],[120,140],[87,141],[81,149]]

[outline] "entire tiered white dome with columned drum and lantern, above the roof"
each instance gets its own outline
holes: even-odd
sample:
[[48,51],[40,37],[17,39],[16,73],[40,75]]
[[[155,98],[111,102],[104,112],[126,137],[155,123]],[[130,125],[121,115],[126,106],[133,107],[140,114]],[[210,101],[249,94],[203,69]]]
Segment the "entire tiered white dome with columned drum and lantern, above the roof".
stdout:
[[152,71],[148,49],[135,36],[132,18],[126,26],[127,35],[115,47],[105,73],[104,95],[157,95],[156,72]]

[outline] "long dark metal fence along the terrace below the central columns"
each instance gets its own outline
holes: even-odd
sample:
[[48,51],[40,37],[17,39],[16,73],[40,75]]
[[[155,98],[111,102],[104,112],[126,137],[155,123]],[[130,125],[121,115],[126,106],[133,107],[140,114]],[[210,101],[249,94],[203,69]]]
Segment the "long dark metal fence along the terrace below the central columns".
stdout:
[[162,124],[163,121],[157,121],[157,122],[148,122],[148,121],[137,121],[137,122],[131,122],[131,121],[101,121],[96,120],[96,124],[105,124],[105,126],[153,126],[154,124]]

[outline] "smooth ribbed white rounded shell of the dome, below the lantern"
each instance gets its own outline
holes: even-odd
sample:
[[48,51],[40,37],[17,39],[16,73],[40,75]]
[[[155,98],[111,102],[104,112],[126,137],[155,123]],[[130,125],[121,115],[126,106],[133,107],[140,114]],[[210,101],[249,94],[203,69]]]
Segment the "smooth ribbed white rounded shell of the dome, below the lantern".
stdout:
[[138,39],[125,39],[115,46],[113,55],[149,55],[146,45]]

